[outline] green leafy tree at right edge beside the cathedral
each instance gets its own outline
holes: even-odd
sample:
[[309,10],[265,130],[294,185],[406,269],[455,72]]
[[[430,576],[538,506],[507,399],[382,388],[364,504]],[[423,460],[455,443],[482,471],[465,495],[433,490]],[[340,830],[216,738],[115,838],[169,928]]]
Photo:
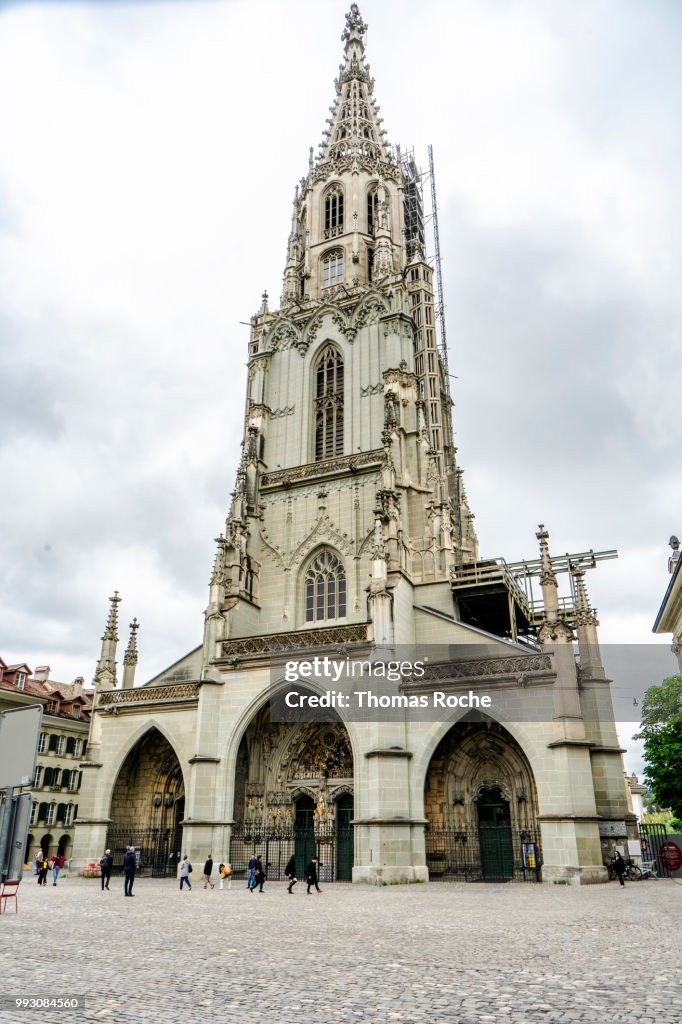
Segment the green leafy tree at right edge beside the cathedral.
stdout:
[[644,777],[660,807],[682,817],[682,676],[649,686],[642,701]]

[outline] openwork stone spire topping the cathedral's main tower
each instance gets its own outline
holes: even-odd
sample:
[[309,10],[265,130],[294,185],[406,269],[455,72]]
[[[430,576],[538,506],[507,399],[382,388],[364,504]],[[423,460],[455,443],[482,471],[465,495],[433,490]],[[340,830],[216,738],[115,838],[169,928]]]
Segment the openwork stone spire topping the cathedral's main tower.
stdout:
[[365,63],[365,33],[367,25],[357,4],[346,14],[341,39],[344,41],[344,62],[335,81],[336,99],[330,108],[332,117],[319,146],[319,160],[341,157],[390,160],[390,150],[381,127],[383,119],[374,98],[374,79]]

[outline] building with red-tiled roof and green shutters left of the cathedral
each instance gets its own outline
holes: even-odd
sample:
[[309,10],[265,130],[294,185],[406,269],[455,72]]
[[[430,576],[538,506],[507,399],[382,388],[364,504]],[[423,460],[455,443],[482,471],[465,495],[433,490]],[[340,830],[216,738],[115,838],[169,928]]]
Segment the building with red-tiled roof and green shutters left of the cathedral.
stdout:
[[28,705],[43,706],[36,770],[31,786],[33,806],[26,859],[42,849],[47,856],[69,858],[85,756],[92,691],[83,690],[83,679],[57,683],[49,667],[31,671],[28,665],[5,665],[0,658],[0,711]]

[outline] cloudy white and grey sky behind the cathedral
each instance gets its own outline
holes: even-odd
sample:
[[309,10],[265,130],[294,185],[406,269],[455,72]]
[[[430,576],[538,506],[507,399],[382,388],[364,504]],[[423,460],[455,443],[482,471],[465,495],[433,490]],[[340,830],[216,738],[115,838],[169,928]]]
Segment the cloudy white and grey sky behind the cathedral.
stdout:
[[[243,322],[280,294],[347,6],[0,0],[5,660],[91,678],[115,588],[139,680],[200,642]],[[540,521],[617,548],[602,638],[650,643],[682,531],[682,7],[360,10],[390,141],[434,148],[482,553],[535,557]]]

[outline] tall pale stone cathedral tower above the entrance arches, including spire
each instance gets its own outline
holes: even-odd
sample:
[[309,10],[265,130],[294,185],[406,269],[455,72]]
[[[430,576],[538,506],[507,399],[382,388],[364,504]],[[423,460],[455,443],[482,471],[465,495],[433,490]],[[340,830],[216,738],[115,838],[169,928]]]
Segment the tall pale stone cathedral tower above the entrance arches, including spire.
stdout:
[[449,574],[476,556],[418,172],[386,141],[365,32],[353,4],[328,128],[296,187],[280,308],[263,295],[252,318],[209,664],[223,640],[313,627],[414,642],[415,586],[444,584],[433,600],[452,613]]

